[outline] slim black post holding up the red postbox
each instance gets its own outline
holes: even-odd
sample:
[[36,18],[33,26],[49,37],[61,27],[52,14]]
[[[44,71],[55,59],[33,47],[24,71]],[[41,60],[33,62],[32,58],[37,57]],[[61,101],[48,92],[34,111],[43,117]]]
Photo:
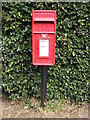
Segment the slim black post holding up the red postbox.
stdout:
[[46,94],[47,94],[47,66],[41,67],[41,107],[46,106]]

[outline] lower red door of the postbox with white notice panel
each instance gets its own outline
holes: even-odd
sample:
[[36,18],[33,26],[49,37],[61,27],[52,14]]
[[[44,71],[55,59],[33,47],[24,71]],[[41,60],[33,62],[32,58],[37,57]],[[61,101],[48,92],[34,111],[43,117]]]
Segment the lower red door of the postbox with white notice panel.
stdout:
[[55,63],[55,35],[48,35],[49,37],[42,37],[42,34],[35,34],[33,41],[34,46],[34,62],[37,64],[52,65]]

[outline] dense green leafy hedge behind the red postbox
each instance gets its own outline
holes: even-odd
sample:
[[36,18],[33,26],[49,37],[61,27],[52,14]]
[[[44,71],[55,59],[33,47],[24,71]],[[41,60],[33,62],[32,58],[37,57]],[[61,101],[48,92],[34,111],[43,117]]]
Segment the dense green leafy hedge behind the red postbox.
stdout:
[[56,10],[56,59],[48,67],[47,99],[89,101],[90,3],[2,3],[3,90],[40,98],[41,67],[32,65],[32,10]]

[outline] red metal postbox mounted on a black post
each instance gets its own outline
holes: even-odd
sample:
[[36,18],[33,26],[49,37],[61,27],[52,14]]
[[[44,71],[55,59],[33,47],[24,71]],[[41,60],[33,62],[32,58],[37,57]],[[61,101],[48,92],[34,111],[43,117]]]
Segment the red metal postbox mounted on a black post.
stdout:
[[56,11],[32,12],[32,61],[33,65],[55,64]]

